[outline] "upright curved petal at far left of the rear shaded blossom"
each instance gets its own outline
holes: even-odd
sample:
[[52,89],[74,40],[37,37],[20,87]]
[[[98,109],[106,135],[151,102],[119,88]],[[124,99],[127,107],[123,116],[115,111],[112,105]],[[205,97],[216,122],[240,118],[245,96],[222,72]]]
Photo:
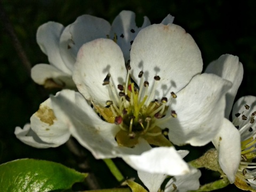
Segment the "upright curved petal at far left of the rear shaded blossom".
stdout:
[[57,22],[44,23],[37,29],[36,40],[41,50],[48,56],[51,65],[71,75],[71,71],[60,56],[59,41],[63,29],[64,27]]

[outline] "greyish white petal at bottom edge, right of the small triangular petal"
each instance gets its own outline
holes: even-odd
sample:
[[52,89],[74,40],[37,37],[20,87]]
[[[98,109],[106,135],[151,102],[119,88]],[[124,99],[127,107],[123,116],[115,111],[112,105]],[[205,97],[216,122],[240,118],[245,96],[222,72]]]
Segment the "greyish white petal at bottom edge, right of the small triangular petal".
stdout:
[[200,186],[199,178],[201,177],[201,172],[197,169],[192,169],[191,173],[175,176],[169,182],[167,182],[165,187],[165,192],[175,191],[173,184],[177,187],[179,192],[187,192],[190,190],[197,190]]

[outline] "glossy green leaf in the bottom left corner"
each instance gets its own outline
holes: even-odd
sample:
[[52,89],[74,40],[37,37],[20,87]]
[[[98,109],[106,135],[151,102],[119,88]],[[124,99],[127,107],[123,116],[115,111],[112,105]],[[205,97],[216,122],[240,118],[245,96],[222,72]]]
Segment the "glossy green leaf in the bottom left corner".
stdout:
[[59,163],[18,159],[0,165],[0,191],[51,191],[70,189],[82,182],[87,173],[79,173]]

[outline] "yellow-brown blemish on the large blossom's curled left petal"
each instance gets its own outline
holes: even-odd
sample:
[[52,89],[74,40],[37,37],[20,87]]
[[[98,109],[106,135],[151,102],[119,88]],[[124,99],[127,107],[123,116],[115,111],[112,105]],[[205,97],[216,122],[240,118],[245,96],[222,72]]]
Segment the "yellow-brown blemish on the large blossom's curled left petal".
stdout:
[[35,115],[40,119],[40,121],[52,125],[54,120],[56,119],[53,110],[47,106],[40,105],[38,111],[36,111]]

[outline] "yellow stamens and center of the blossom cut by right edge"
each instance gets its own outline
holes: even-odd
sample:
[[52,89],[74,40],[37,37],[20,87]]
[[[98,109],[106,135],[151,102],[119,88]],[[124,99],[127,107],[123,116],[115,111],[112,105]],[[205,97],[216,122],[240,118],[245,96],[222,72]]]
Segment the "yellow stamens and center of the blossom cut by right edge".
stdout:
[[[235,185],[244,190],[250,190],[256,187],[256,163],[252,162],[256,157],[256,130],[252,128],[256,111],[249,113],[250,106],[245,105],[245,110],[235,114],[236,118],[233,124],[241,134],[241,161],[236,173]],[[248,116],[249,115],[249,116]],[[247,185],[247,184],[249,185]]]

